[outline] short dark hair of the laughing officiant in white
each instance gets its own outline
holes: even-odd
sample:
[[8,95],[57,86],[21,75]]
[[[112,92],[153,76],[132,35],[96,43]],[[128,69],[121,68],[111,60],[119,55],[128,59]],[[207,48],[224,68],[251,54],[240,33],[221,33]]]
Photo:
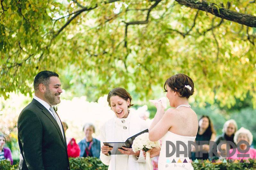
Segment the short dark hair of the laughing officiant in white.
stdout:
[[130,108],[131,106],[133,106],[132,104],[132,97],[130,95],[130,93],[128,93],[125,89],[121,88],[121,87],[117,87],[115,89],[112,89],[108,95],[107,95],[107,102],[108,102],[108,106],[111,107],[110,105],[110,97],[112,96],[119,96],[121,98],[123,98],[125,101],[128,100],[128,98],[130,99],[130,105],[128,106],[128,108]]

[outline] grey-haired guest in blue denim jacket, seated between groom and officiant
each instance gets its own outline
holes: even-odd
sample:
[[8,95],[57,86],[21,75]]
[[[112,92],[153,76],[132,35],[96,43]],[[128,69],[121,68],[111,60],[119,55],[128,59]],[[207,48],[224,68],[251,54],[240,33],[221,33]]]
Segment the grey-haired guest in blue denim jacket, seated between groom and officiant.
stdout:
[[97,157],[100,153],[100,141],[92,137],[95,132],[95,126],[91,123],[86,123],[83,126],[85,138],[81,140],[78,145],[80,147],[80,157]]

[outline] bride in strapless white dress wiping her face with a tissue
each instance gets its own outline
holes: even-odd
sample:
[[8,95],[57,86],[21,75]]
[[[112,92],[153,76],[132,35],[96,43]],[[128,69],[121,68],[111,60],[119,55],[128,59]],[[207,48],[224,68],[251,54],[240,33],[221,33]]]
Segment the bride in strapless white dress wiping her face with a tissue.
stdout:
[[[196,138],[197,115],[188,103],[188,98],[194,93],[194,83],[189,76],[180,73],[169,77],[164,84],[164,89],[167,92],[166,97],[169,99],[170,106],[174,108],[169,108],[164,112],[161,101],[155,103],[157,112],[149,128],[150,141],[162,140],[158,169],[193,169],[187,155],[183,153],[177,156],[176,141],[185,143],[187,147],[184,149],[183,145],[179,145],[179,151],[187,151],[188,141],[194,142]],[[171,145],[167,145],[170,143],[167,141],[174,143],[176,147],[174,155],[166,155],[173,149]],[[153,152],[155,151],[152,149],[152,155],[155,154]]]

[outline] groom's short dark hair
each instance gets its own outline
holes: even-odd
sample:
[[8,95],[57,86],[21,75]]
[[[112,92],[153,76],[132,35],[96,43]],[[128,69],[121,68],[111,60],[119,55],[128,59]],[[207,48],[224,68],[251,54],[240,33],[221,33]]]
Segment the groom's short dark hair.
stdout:
[[50,77],[52,76],[59,77],[59,75],[55,72],[51,72],[47,70],[39,72],[34,79],[35,91],[39,90],[39,84],[44,84],[46,87],[48,87]]

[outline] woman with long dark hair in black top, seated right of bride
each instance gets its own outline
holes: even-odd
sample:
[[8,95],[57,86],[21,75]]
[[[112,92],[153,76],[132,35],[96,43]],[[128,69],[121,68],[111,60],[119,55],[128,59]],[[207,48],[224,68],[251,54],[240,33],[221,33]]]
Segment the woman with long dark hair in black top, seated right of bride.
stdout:
[[[215,141],[216,133],[213,128],[213,124],[208,116],[203,115],[198,122],[198,132],[196,135],[196,141]],[[200,150],[201,149],[201,150]],[[196,157],[196,148],[192,145],[192,152],[191,152],[191,158],[192,160],[195,159],[208,159],[209,153],[203,153],[202,157],[200,157],[200,152],[209,152],[209,143],[208,144],[202,144],[202,146],[197,146],[197,152],[198,157]]]

